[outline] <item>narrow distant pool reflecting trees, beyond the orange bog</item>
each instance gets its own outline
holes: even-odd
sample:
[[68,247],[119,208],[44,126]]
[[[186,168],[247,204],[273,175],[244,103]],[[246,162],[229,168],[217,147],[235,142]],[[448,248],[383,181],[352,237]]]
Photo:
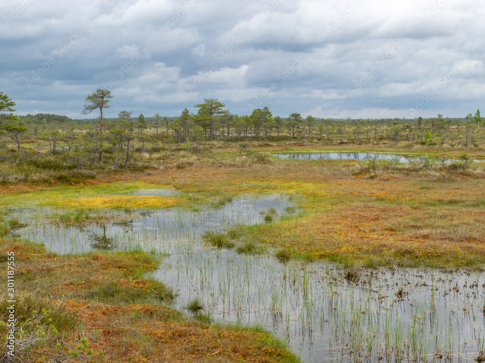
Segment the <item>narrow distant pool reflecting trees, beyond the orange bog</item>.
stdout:
[[[417,155],[393,154],[386,152],[365,152],[365,151],[311,151],[311,152],[278,152],[273,156],[281,159],[297,160],[358,160],[365,161],[370,159],[396,161],[398,163],[409,163],[420,159]],[[422,158],[422,156],[421,156]],[[437,159],[427,158],[432,162],[451,163],[456,159]],[[481,161],[481,159],[471,159]]]

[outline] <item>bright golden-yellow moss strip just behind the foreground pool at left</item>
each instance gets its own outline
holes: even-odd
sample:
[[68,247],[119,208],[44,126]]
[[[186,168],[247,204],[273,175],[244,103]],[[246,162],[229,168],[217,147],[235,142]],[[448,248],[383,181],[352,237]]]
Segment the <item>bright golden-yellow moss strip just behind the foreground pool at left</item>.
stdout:
[[76,199],[58,199],[57,207],[67,208],[167,208],[184,202],[181,198],[159,196],[99,196]]

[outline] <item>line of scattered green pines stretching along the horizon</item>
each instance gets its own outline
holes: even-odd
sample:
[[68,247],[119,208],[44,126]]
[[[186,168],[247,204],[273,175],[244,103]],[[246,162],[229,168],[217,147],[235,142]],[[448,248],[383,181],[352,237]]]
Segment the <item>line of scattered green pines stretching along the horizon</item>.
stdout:
[[84,115],[96,114],[96,123],[71,120],[65,116],[37,114],[15,116],[15,102],[0,92],[0,132],[4,137],[0,148],[10,138],[20,150],[22,138],[44,140],[49,151],[69,151],[82,164],[86,160],[102,163],[105,151],[111,162],[128,167],[130,152],[138,149],[177,144],[185,149],[198,148],[204,140],[278,140],[316,139],[327,143],[379,143],[410,141],[426,145],[478,147],[485,139],[484,118],[480,111],[463,119],[321,119],[302,117],[294,112],[286,117],[274,116],[268,107],[254,109],[249,115],[236,115],[217,99],[204,99],[196,104],[196,113],[185,108],[178,117],[155,114],[134,117],[131,111],[119,111],[117,118],[106,118],[113,96],[99,89],[86,96]]

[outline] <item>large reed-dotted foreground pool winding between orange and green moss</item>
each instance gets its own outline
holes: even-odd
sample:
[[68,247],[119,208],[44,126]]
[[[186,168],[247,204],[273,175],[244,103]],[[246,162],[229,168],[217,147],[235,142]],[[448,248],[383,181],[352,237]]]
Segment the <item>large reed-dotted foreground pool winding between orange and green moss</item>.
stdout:
[[[138,195],[173,195],[138,191]],[[162,257],[155,278],[178,291],[176,308],[198,297],[202,314],[222,321],[264,326],[289,342],[304,362],[340,360],[472,362],[484,349],[485,274],[429,269],[349,270],[331,263],[289,261],[272,251],[246,255],[203,242],[204,231],[264,223],[291,210],[281,195],[234,198],[225,206],[193,212],[182,208],[138,210],[103,225],[52,226],[52,210],[16,211],[16,233],[50,251],[141,246]],[[108,211],[107,211],[108,212]],[[275,218],[275,219],[277,219]],[[274,252],[274,251],[273,251]]]

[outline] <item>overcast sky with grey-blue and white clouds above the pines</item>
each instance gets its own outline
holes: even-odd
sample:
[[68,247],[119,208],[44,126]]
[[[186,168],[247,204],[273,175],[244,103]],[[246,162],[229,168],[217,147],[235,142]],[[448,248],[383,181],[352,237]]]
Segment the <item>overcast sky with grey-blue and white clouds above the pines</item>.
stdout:
[[[216,98],[282,117],[465,117],[485,107],[482,0],[1,0],[16,114],[177,116]],[[483,112],[482,112],[483,113]]]

